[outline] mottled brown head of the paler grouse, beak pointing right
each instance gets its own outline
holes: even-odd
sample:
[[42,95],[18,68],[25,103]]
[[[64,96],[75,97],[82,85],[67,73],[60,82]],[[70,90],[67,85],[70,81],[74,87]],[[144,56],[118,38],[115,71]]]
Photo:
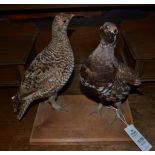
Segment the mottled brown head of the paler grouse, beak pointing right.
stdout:
[[74,16],[73,14],[65,14],[65,13],[59,13],[58,15],[56,15],[53,20],[52,31],[55,31],[55,32],[67,31],[68,24],[73,16]]

